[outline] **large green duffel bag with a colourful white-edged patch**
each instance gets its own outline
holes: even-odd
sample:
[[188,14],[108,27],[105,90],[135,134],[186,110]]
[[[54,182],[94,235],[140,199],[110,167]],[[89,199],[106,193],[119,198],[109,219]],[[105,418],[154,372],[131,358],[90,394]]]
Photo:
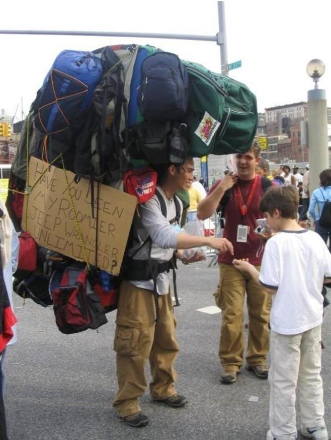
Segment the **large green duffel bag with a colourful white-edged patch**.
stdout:
[[244,84],[184,61],[190,77],[186,123],[189,154],[244,153],[252,145],[258,124],[255,95]]

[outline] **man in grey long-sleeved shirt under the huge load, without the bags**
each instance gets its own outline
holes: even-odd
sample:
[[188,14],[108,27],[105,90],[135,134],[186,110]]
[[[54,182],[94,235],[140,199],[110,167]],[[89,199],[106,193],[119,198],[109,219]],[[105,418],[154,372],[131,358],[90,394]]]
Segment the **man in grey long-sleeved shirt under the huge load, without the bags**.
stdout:
[[184,264],[199,261],[202,255],[197,252],[191,260],[185,260],[182,250],[176,249],[207,245],[233,254],[227,239],[190,236],[180,229],[182,204],[175,193],[191,185],[193,159],[180,165],[158,166],[156,171],[157,195],[139,205],[133,220],[133,239],[116,317],[118,392],[113,406],[118,419],[132,427],[143,427],[149,422],[139,405],[139,397],[147,388],[144,372],[147,360],[151,365],[152,399],[173,408],[186,403],[174,385],[177,377],[174,363],[179,348],[166,273],[172,268],[174,252]]

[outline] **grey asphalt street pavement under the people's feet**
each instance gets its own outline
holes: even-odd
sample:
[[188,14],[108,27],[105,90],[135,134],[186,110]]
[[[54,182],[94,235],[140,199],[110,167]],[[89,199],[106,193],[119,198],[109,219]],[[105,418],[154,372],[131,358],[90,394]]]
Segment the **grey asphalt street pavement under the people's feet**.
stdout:
[[[112,350],[116,313],[107,315],[109,322],[99,331],[63,335],[55,325],[51,307],[44,309],[31,300],[23,306],[22,298],[15,295],[19,340],[8,347],[5,362],[9,439],[265,440],[267,381],[244,368],[233,385],[222,385],[219,380],[221,313],[213,307],[218,276],[218,267],[209,268],[206,262],[180,265],[177,279],[181,305],[175,309],[180,344],[177,391],[189,402],[184,408],[169,408],[152,402],[146,391],[141,407],[150,423],[145,428],[119,423],[111,408],[117,390]],[[198,311],[204,308],[217,313]],[[330,314],[331,306],[325,312],[326,348],[322,360],[329,432]],[[146,372],[150,377],[148,367]],[[298,415],[298,426],[299,423]]]

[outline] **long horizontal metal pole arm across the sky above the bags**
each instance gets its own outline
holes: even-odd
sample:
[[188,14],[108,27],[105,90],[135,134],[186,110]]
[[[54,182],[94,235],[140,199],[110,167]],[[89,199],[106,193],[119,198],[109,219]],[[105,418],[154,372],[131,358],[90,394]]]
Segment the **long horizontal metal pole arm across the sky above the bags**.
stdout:
[[187,35],[187,34],[154,34],[141,32],[92,32],[73,30],[1,30],[0,34],[21,34],[21,35],[72,35],[86,37],[137,37],[137,38],[163,38],[172,40],[198,40],[218,41],[215,35]]

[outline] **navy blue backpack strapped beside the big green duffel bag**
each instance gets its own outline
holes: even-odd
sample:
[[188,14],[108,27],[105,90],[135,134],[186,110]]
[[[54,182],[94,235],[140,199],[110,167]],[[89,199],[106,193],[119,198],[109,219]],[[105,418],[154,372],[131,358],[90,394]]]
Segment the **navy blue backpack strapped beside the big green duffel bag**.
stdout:
[[188,73],[177,55],[159,51],[143,61],[138,105],[145,119],[181,120],[188,94]]

